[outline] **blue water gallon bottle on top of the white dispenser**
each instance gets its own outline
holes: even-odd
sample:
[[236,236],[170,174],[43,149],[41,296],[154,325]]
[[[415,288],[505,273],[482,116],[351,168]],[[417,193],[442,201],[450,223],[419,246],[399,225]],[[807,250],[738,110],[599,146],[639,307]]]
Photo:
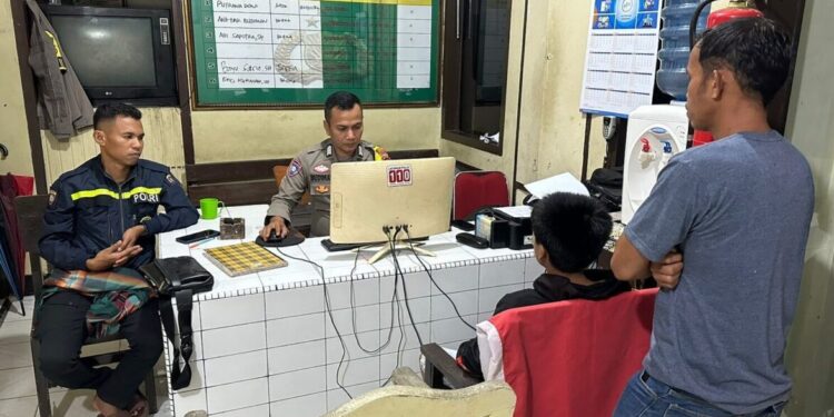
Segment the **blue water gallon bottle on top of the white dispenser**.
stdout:
[[[661,12],[663,29],[661,29],[661,69],[657,71],[657,88],[672,96],[675,100],[686,101],[686,86],[689,76],[686,75],[686,62],[689,60],[689,22],[697,0],[666,0]],[[697,33],[706,28],[709,7],[701,12]]]

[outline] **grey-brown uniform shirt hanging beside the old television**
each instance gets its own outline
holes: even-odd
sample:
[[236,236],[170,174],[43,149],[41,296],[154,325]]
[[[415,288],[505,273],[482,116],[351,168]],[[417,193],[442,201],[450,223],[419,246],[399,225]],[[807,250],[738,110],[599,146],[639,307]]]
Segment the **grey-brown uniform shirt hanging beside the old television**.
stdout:
[[26,4],[32,19],[29,66],[38,88],[38,121],[41,129],[49,129],[58,139],[67,139],[92,126],[92,105],[52,24],[34,0],[26,0]]

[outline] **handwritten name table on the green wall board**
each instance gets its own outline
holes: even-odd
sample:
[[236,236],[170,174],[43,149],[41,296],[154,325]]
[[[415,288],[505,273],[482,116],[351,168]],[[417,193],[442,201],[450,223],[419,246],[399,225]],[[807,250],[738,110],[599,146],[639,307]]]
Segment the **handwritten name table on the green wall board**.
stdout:
[[[396,6],[358,13],[356,4],[309,0],[212,0],[211,62],[219,88],[322,88],[327,82],[376,82],[429,88],[431,7]],[[363,8],[373,6],[363,4]],[[364,9],[363,9],[364,10]],[[380,9],[386,10],[386,9]],[[357,28],[363,28],[356,31]],[[325,77],[327,73],[329,76]],[[385,75],[390,75],[385,81]]]

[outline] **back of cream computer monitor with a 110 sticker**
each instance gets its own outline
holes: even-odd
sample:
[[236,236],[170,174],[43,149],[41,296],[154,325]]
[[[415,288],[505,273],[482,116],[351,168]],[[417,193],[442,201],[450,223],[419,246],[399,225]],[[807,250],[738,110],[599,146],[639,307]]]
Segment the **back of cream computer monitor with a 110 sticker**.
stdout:
[[408,225],[411,239],[448,231],[454,176],[455,158],[334,163],[330,240],[387,241],[385,226]]

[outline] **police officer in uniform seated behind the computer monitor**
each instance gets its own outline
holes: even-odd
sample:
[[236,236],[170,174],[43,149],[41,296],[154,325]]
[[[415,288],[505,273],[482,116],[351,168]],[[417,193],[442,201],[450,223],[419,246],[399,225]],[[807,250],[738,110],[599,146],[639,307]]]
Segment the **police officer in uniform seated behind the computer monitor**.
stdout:
[[[361,140],[363,108],[359,98],[347,91],[337,91],[325,101],[325,132],[328,139],[301,151],[287,169],[278,193],[267,211],[268,222],[260,236],[270,231],[287,236],[289,214],[309,191],[312,202],[310,236],[330,234],[330,165],[345,161],[373,161],[388,159],[381,148]],[[376,149],[376,150],[375,150]]]

